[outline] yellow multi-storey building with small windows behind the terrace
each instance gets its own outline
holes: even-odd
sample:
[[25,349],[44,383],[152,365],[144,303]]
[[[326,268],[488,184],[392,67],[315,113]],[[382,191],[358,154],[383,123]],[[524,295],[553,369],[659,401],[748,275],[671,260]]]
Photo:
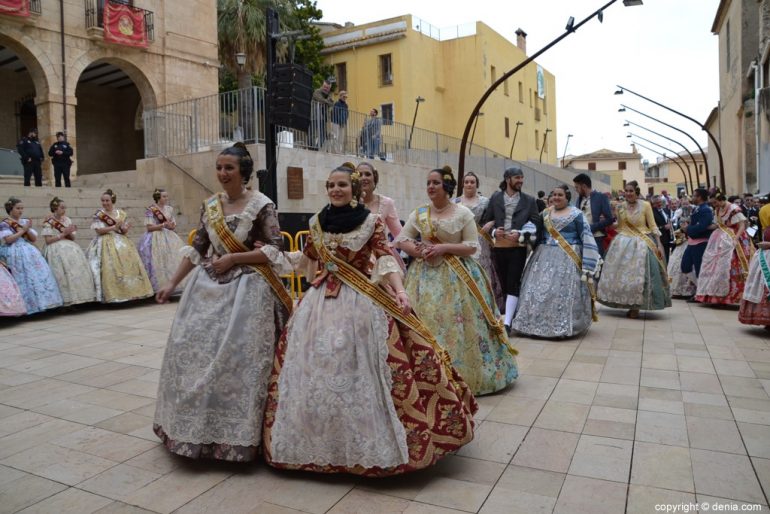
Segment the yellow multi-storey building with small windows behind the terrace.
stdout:
[[[482,22],[439,30],[404,15],[324,30],[323,53],[351,110],[374,107],[384,120],[410,125],[416,99],[424,98],[416,126],[460,138],[487,88],[527,58],[526,33],[516,34],[513,44]],[[501,84],[481,112],[475,145],[505,157],[513,146],[516,160],[539,160],[542,150],[543,162],[557,164],[551,73],[530,63]]]

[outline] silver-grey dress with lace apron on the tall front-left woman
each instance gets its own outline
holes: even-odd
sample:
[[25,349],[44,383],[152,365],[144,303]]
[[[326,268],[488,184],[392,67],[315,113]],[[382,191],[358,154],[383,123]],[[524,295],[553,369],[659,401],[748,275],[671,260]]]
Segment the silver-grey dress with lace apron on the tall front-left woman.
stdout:
[[[291,272],[272,201],[254,192],[243,211],[224,215],[218,194],[204,202],[192,246],[196,265],[171,327],[153,429],[171,452],[251,461],[258,453],[273,352],[292,308],[278,275]],[[269,264],[223,274],[212,258],[265,244]]]

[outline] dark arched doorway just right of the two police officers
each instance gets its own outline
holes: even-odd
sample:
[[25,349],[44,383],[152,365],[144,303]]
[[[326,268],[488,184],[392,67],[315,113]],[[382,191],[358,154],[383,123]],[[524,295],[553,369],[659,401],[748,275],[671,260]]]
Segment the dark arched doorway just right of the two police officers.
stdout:
[[75,96],[78,173],[135,169],[136,160],[144,157],[144,128],[137,112],[155,103],[144,75],[125,61],[96,60],[81,72]]

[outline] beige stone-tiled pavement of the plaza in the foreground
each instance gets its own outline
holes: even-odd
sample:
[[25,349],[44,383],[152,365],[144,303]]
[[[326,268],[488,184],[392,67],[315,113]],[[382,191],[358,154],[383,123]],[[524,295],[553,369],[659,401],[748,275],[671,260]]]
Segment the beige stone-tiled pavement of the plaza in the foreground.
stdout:
[[166,452],[151,423],[175,309],[0,321],[0,513],[769,512],[770,338],[735,310],[603,309],[581,339],[516,339],[522,376],[479,399],[471,444],[361,479]]

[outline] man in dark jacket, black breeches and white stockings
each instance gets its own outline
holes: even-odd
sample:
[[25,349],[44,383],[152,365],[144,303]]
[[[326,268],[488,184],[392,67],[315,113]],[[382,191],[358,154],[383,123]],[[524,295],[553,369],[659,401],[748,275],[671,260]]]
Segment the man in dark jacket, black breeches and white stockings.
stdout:
[[537,202],[534,197],[521,192],[523,184],[524,172],[520,167],[506,169],[500,191],[489,199],[481,217],[482,226],[489,221],[495,222],[492,258],[505,295],[505,327],[509,332],[519,303],[521,276],[527,261],[527,246],[521,243],[521,238],[537,244],[543,235]]

